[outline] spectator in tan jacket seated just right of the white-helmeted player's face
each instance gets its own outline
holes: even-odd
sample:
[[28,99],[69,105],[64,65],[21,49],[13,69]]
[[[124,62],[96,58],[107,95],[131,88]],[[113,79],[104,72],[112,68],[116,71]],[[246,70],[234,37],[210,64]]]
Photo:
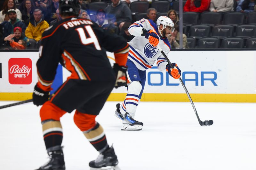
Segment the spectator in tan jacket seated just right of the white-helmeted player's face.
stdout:
[[[171,35],[167,37],[167,39],[170,42],[171,48],[180,48],[180,26],[174,25],[174,29],[174,32],[172,32]],[[182,35],[182,40],[183,48],[189,48],[187,44],[187,36],[185,34]]]

